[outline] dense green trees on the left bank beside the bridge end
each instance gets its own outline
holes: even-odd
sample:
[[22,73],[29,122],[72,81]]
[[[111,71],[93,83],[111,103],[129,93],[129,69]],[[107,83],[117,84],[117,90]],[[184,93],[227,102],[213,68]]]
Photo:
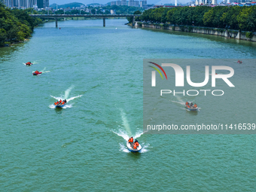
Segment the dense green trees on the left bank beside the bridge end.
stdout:
[[34,27],[41,22],[29,17],[31,10],[6,8],[0,3],[0,46],[23,41],[31,36]]

